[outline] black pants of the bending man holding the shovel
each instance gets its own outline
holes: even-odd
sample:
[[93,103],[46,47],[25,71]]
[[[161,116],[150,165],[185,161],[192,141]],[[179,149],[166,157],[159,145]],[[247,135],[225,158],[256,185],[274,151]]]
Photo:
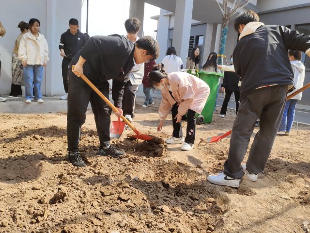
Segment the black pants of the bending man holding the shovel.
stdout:
[[[109,99],[109,83],[103,83],[97,88]],[[85,123],[88,103],[91,102],[93,115],[96,122],[100,146],[106,147],[110,144],[110,116],[111,108],[102,100],[93,89],[78,78],[69,69],[68,86],[68,116],[67,116],[67,137],[68,150],[78,151],[78,142],[81,133],[81,126]]]

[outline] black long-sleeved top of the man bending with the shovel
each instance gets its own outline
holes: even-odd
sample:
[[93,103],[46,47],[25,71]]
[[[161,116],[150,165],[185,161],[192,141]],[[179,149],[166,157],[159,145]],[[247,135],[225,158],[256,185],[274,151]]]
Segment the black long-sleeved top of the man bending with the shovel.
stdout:
[[114,106],[122,108],[125,77],[134,67],[135,45],[124,36],[96,35],[73,57],[71,65],[78,62],[79,56],[86,62],[83,65],[85,76],[99,87],[109,89],[109,79],[113,79],[112,99]]

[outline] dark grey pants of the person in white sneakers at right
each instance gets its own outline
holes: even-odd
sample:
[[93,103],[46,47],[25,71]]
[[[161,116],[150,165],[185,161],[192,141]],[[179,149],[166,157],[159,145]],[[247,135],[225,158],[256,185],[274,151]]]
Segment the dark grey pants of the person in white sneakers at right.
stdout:
[[263,171],[282,119],[286,92],[287,85],[263,87],[241,100],[237,117],[233,122],[228,159],[224,163],[224,173],[227,176],[242,178],[241,162],[258,118],[260,131],[256,133],[249,151],[247,170],[255,174]]

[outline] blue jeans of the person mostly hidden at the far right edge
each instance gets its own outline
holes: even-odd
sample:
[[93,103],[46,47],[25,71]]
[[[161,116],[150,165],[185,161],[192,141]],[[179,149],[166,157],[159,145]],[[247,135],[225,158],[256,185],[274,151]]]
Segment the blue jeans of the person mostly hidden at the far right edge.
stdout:
[[287,100],[279,131],[290,132],[293,126],[295,107],[298,100]]

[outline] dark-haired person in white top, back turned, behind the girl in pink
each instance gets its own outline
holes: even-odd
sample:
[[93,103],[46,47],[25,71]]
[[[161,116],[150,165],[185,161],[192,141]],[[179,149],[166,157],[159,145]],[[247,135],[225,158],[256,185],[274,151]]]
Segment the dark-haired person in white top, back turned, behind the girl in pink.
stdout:
[[183,69],[182,59],[176,55],[176,51],[173,46],[167,49],[166,56],[161,61],[161,64],[164,65],[167,74],[181,71],[181,69]]

